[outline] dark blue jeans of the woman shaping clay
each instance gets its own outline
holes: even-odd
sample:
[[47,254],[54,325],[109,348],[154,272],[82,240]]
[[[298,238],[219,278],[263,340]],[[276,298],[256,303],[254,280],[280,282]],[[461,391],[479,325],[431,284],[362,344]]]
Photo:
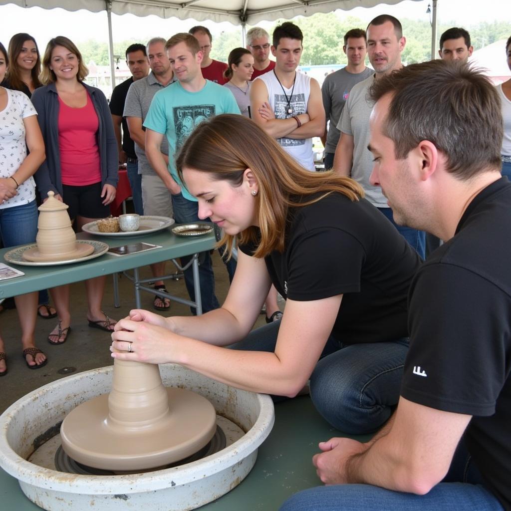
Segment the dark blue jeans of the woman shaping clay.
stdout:
[[[231,349],[275,351],[280,321],[253,330]],[[350,434],[377,430],[399,400],[408,339],[343,345],[330,336],[311,375],[311,399],[334,428]]]

